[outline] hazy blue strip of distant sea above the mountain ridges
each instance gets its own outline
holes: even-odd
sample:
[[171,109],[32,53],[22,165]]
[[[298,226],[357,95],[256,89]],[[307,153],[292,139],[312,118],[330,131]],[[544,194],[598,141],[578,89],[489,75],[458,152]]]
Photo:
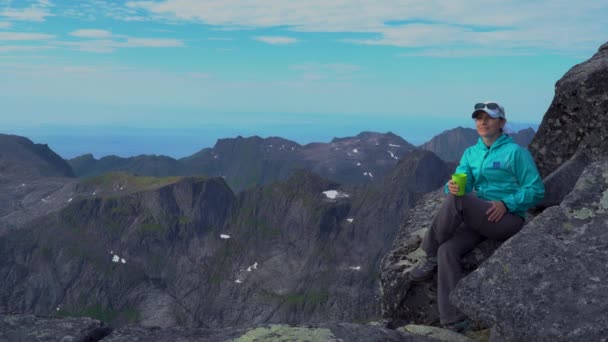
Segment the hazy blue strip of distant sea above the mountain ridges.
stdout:
[[[278,136],[305,145],[330,142],[333,138],[355,136],[363,131],[393,132],[414,145],[421,145],[435,135],[458,126],[474,128],[472,120],[445,118],[399,118],[353,116],[341,119],[307,117],[306,120],[264,121],[138,127],[129,125],[14,125],[4,126],[0,133],[29,138],[47,144],[65,159],[86,153],[95,158],[108,155],[131,157],[142,154],[182,158],[203,148],[213,147],[218,139]],[[527,127],[537,130],[538,124],[509,123],[511,131]]]

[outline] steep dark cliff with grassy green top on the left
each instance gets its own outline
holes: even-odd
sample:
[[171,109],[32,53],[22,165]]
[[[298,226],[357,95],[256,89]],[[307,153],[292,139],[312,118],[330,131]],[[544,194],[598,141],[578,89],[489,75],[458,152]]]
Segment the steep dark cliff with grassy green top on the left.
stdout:
[[188,250],[219,232],[233,201],[217,179],[75,200],[0,238],[0,310],[175,324],[187,315],[176,288],[191,289],[179,282],[213,264],[220,244]]

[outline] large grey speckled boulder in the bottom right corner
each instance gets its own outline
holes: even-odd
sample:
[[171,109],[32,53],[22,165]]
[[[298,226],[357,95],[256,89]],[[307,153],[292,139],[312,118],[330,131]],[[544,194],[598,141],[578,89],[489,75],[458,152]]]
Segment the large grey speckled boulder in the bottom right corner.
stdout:
[[452,301],[505,341],[606,341],[608,161],[590,164],[546,209],[463,279]]

